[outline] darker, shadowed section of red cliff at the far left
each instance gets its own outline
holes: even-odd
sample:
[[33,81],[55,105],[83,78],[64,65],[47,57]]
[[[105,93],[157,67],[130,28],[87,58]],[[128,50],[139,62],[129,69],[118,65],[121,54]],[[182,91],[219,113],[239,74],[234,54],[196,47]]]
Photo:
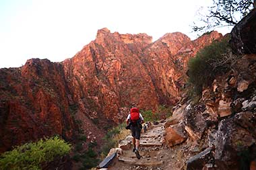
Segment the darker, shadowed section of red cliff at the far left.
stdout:
[[18,69],[0,69],[0,151],[24,141],[61,134],[75,125],[63,66],[31,59]]

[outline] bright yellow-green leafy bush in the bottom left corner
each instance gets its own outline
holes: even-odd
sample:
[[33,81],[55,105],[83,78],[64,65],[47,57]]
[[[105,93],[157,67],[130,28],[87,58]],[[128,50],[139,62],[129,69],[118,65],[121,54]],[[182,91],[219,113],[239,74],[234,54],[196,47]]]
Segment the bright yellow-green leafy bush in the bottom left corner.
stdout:
[[69,153],[71,145],[55,136],[16,146],[0,157],[0,169],[41,169],[40,164]]

